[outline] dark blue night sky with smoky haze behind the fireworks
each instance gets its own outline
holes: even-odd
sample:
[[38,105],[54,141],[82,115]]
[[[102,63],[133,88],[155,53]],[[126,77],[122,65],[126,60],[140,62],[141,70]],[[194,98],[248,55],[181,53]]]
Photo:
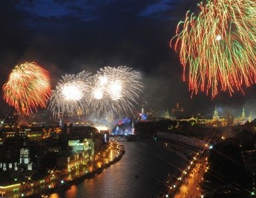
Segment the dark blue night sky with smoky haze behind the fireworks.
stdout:
[[[24,61],[36,61],[50,71],[52,86],[61,75],[107,65],[127,65],[143,73],[147,107],[163,113],[176,102],[187,114],[212,114],[219,106],[256,113],[256,86],[241,93],[204,93],[190,99],[182,82],[178,56],[170,49],[176,24],[186,11],[196,9],[192,0],[2,1],[0,7],[0,84],[11,69]],[[3,93],[1,91],[1,98]],[[7,105],[1,101],[2,113]]]

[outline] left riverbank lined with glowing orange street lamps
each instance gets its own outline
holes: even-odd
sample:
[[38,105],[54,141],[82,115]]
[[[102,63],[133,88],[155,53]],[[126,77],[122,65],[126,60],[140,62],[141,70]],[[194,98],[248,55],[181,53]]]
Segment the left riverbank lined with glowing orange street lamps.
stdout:
[[[11,195],[6,195],[6,197],[48,197],[51,193],[63,193],[72,185],[78,185],[84,180],[94,178],[95,175],[101,174],[105,168],[121,160],[123,154],[125,154],[125,149],[119,145],[117,148],[110,149],[107,153],[107,155],[102,154],[102,158],[99,158],[99,155],[97,155],[97,160],[90,166],[80,166],[80,168],[68,172],[66,176],[54,172],[54,180],[40,182],[40,185],[33,185],[31,189],[12,193]],[[38,181],[32,181],[32,183],[38,183]]]

